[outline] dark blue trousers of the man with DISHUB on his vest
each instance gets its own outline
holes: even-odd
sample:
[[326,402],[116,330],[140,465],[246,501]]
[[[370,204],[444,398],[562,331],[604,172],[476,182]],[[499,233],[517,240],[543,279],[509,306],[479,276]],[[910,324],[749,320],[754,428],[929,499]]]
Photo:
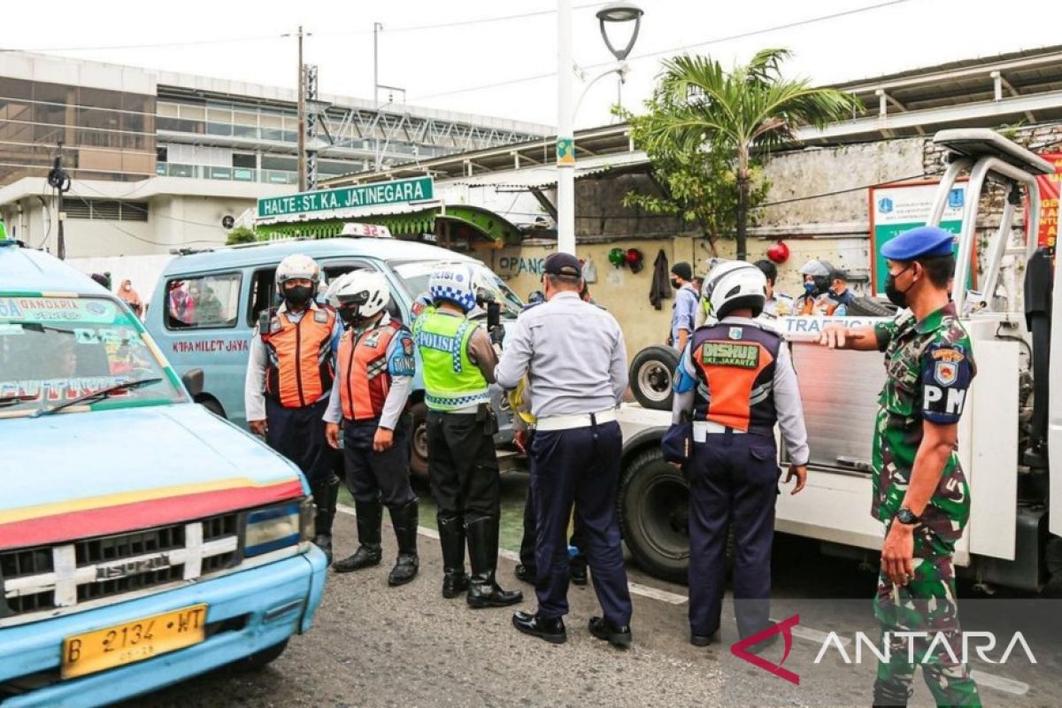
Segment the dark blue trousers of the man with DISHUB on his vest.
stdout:
[[693,444],[689,479],[689,625],[719,629],[726,531],[734,529],[734,608],[741,638],[770,625],[771,545],[778,465],[773,437],[708,434]]

